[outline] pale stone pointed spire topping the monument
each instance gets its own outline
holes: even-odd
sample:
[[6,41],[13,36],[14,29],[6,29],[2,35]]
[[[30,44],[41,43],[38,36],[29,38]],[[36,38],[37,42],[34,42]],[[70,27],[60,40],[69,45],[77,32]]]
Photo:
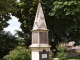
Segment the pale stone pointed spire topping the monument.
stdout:
[[42,10],[41,3],[38,4],[37,12],[36,12],[36,17],[33,25],[32,30],[48,30]]

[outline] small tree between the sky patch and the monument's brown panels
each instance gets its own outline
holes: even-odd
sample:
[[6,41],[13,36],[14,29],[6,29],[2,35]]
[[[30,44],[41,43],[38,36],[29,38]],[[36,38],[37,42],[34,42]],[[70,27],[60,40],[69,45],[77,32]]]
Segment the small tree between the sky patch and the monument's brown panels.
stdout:
[[15,36],[17,36],[16,40],[18,41],[19,46],[26,46],[27,48],[29,47],[30,41],[24,32],[16,30]]

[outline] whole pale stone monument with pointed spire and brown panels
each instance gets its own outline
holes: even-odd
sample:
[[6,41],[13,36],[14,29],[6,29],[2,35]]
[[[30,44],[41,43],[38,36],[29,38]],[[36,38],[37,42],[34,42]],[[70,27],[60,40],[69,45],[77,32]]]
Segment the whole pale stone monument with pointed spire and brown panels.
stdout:
[[32,31],[32,60],[49,60],[50,45],[48,44],[48,29],[46,26],[41,3],[38,4]]

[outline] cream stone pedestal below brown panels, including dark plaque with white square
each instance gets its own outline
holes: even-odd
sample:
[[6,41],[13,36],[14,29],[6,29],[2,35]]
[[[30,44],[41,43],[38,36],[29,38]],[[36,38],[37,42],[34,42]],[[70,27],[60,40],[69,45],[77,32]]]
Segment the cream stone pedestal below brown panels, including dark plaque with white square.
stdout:
[[49,60],[50,45],[31,45],[32,60]]

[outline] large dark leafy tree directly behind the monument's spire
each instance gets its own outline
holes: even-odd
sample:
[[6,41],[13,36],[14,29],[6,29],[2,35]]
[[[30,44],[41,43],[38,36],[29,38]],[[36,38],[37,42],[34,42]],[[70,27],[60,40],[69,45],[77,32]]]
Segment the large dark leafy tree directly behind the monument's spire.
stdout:
[[[38,0],[21,0],[18,4],[18,14],[22,31],[31,40],[33,21],[35,19]],[[59,42],[80,39],[80,1],[77,0],[41,0],[49,31],[49,41],[52,47]],[[80,44],[80,43],[77,43]]]

